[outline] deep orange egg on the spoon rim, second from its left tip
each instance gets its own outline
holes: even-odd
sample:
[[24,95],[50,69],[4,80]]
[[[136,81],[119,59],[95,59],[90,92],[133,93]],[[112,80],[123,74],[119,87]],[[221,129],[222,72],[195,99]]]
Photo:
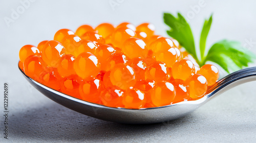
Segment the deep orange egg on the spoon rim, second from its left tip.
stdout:
[[47,67],[39,75],[40,83],[55,90],[58,90],[60,88],[60,85],[59,85],[60,80],[61,80],[61,76],[58,74],[57,68],[54,68],[54,67]]

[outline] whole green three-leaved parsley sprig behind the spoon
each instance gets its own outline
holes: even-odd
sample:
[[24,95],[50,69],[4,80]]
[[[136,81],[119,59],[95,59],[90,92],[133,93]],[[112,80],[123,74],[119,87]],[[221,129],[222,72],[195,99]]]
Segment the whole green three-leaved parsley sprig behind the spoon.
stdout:
[[185,18],[180,13],[178,13],[177,18],[172,14],[164,13],[163,18],[166,25],[170,27],[167,34],[176,39],[195,58],[200,66],[203,66],[206,61],[212,61],[219,64],[227,73],[230,73],[230,71],[248,66],[248,63],[256,59],[256,56],[243,48],[240,42],[230,40],[222,40],[215,43],[205,56],[206,39],[212,22],[211,15],[208,20],[205,20],[201,32],[199,49],[201,60],[199,60],[192,31]]

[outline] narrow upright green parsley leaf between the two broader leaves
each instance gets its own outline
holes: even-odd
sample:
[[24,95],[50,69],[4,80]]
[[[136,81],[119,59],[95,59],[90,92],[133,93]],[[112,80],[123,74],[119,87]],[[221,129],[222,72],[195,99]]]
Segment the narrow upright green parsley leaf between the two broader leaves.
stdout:
[[205,58],[204,57],[205,45],[206,45],[206,39],[207,39],[208,33],[210,31],[211,21],[212,21],[212,15],[210,16],[209,20],[204,21],[204,26],[200,36],[200,54],[201,54],[202,61]]

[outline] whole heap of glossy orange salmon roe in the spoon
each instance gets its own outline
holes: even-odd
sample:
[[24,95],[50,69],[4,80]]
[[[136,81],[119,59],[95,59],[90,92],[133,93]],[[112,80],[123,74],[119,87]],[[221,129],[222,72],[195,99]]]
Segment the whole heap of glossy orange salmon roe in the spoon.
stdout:
[[216,66],[199,67],[176,39],[155,34],[152,23],[101,23],[19,51],[20,70],[79,100],[114,108],[152,108],[206,96],[219,78]]

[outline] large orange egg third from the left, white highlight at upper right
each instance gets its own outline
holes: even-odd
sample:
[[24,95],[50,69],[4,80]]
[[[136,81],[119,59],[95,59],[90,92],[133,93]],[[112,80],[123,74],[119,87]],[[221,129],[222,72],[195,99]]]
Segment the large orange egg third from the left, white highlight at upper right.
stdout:
[[64,53],[65,47],[60,42],[51,40],[46,42],[42,49],[42,59],[47,65],[57,67],[57,62]]

